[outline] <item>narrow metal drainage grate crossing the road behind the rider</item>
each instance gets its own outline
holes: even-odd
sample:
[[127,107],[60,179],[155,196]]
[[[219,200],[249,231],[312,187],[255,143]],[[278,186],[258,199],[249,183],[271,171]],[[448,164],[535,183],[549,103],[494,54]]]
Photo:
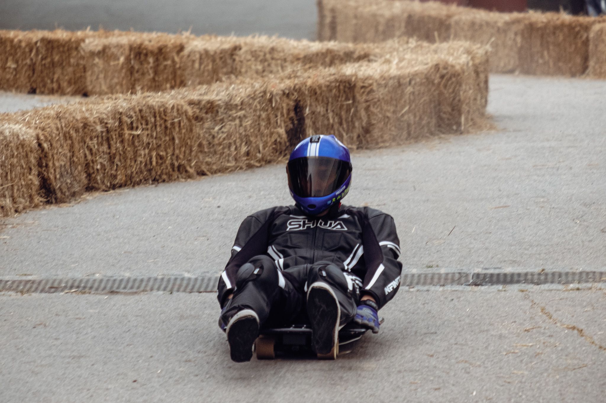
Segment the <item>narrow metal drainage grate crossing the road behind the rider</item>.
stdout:
[[[92,277],[72,279],[0,280],[0,292],[215,292],[218,276]],[[513,284],[579,284],[606,282],[606,271],[405,273],[402,286],[484,286]]]

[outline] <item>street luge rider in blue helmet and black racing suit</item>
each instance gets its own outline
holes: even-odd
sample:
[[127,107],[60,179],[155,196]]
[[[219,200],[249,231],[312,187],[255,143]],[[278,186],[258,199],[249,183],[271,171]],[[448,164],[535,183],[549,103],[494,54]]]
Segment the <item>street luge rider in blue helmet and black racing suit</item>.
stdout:
[[333,135],[306,138],[286,171],[295,205],[245,218],[219,279],[219,326],[236,362],[250,361],[261,326],[290,326],[302,311],[319,354],[352,320],[377,333],[377,312],[399,289],[393,218],[341,205],[351,184],[347,147]]

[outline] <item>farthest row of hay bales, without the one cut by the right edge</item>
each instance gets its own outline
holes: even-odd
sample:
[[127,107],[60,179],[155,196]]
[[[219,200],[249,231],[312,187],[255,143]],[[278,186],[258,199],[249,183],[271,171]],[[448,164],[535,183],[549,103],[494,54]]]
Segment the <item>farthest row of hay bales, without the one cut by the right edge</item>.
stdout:
[[604,19],[558,13],[493,13],[437,2],[318,0],[319,40],[379,42],[417,37],[491,47],[491,71],[579,76],[589,31]]

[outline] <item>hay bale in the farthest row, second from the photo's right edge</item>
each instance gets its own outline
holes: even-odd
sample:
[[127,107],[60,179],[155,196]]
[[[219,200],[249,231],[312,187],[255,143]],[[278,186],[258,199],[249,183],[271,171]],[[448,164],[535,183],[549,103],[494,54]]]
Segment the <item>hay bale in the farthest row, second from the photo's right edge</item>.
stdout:
[[529,13],[519,71],[524,74],[579,76],[587,70],[589,31],[594,19],[558,13]]

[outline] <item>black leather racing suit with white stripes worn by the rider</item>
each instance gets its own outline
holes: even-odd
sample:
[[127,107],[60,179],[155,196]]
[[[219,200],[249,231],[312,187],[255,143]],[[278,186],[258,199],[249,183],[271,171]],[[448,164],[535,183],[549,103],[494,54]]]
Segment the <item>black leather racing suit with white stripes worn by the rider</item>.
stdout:
[[322,218],[295,206],[258,211],[240,225],[219,279],[222,320],[250,308],[261,323],[289,324],[304,310],[308,285],[322,281],[335,291],[345,324],[361,295],[380,309],[398,292],[399,255],[393,218],[373,208],[335,206]]

